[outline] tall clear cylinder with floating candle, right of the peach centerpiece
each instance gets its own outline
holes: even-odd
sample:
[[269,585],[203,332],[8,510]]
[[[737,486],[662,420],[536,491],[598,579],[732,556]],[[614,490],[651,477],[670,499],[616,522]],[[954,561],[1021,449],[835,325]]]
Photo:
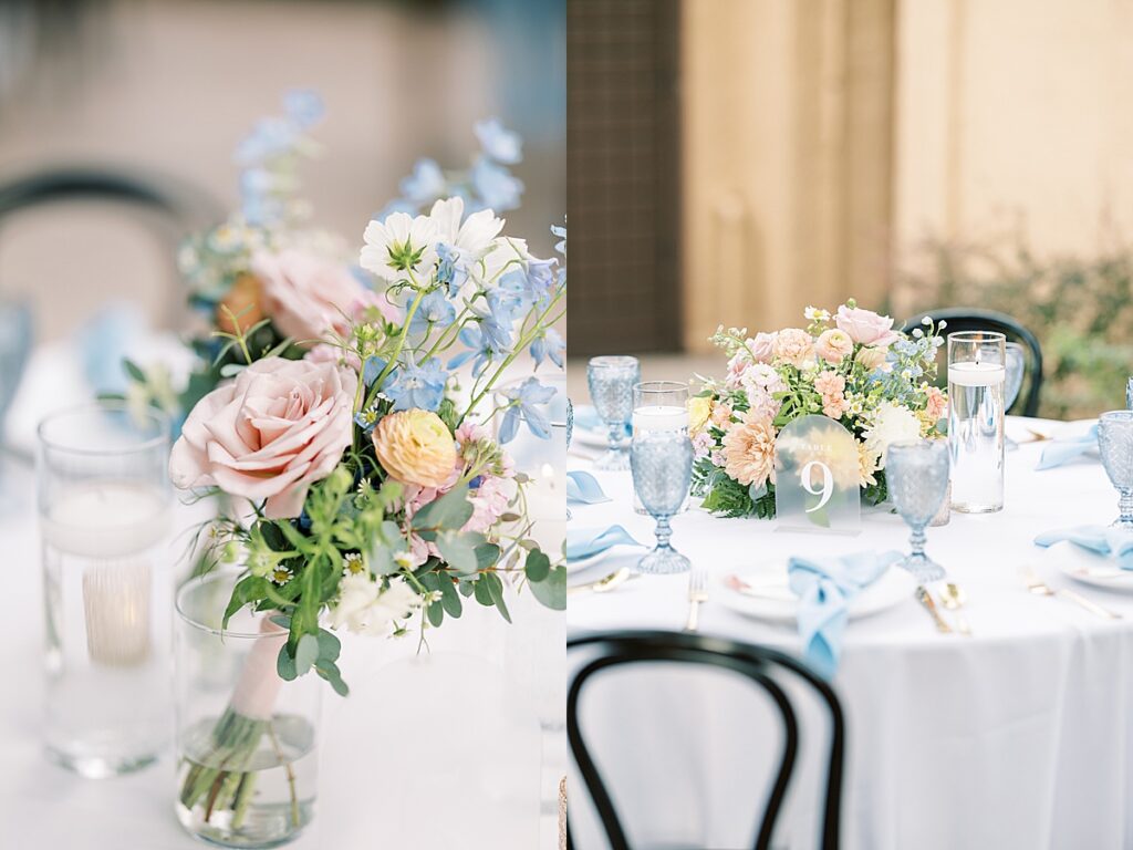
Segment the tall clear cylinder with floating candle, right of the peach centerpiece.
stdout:
[[948,335],[948,448],[952,508],[1003,510],[1006,339],[969,331]]

